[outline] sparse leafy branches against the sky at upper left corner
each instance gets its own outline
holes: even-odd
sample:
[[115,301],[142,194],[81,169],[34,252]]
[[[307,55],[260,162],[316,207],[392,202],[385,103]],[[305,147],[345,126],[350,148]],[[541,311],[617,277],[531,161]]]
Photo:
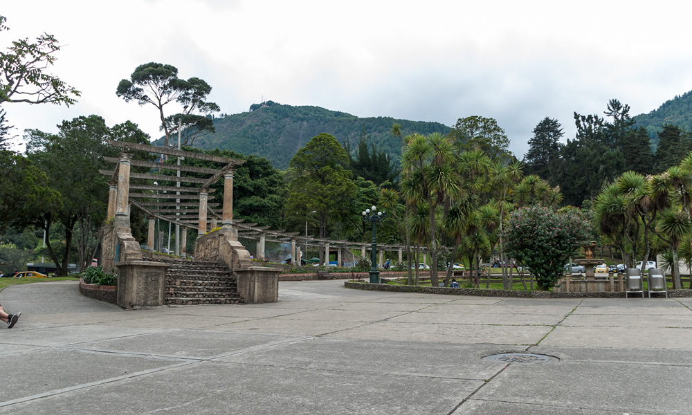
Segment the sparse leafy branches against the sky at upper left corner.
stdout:
[[[8,30],[6,17],[0,16],[0,32]],[[60,45],[53,35],[44,33],[30,42],[28,38],[12,42],[6,52],[0,52],[0,104],[26,102],[28,104],[65,104],[70,106],[80,96],[72,86],[59,77],[46,73],[55,64],[55,53]]]

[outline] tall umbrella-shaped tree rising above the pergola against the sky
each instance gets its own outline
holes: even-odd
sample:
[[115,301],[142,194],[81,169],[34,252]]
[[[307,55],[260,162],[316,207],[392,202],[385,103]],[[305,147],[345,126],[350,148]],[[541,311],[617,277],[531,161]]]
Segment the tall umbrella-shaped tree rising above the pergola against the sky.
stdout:
[[[195,114],[199,112],[209,115],[220,111],[217,104],[205,101],[211,91],[212,87],[197,77],[181,80],[175,66],[149,62],[137,66],[129,80],[121,80],[116,95],[125,102],[135,100],[140,105],[154,105],[161,119],[164,147],[169,147],[170,136],[178,133],[181,123],[181,132],[184,133],[181,146],[192,145],[194,139],[201,134],[215,131],[209,118]],[[183,111],[166,116],[164,107],[171,102],[183,106]]]

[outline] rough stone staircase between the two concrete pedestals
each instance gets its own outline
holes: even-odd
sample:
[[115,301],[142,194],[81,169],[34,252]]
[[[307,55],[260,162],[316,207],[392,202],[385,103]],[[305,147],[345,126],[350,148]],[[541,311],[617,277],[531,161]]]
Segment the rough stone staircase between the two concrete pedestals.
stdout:
[[238,304],[235,277],[228,268],[216,262],[165,259],[165,304]]

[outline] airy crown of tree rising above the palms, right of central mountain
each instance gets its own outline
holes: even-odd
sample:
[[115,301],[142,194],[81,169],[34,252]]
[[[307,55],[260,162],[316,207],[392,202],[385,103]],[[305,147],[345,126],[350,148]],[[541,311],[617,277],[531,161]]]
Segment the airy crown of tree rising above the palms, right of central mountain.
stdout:
[[493,159],[509,156],[509,138],[495,118],[459,118],[448,136],[462,151],[480,149]]

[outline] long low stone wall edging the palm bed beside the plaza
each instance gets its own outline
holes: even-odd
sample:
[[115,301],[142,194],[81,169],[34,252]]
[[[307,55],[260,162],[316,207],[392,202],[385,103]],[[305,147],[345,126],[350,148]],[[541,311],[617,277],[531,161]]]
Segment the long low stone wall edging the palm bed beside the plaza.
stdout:
[[[550,291],[505,291],[484,288],[449,288],[424,286],[397,286],[390,284],[370,284],[368,282],[344,282],[346,288],[369,291],[389,291],[393,293],[423,293],[444,295],[473,295],[475,297],[516,297],[516,298],[624,298],[625,293],[552,293]],[[664,297],[662,293],[653,293]],[[638,295],[638,294],[637,294]],[[630,294],[630,297],[637,295]],[[648,294],[645,294],[648,298]],[[668,290],[668,297],[692,297],[692,290]]]

